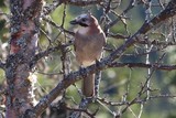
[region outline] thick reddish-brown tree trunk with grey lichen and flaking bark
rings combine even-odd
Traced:
[[[19,118],[34,106],[31,69],[40,32],[42,0],[10,0],[11,39],[7,58],[7,118]]]

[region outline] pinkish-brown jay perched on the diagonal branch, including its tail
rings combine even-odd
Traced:
[[[75,32],[75,55],[80,67],[87,67],[100,61],[106,45],[106,34],[98,20],[91,13],[82,13],[70,21],[79,25]],[[82,94],[86,97],[95,96],[95,73],[82,81]]]

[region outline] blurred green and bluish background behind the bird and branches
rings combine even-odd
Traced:
[[[136,0],[135,6],[131,8],[125,15],[121,15],[128,8],[130,0],[112,0],[111,6],[114,7],[111,12],[105,15],[105,8],[107,7],[109,0],[105,0],[102,4],[91,4],[91,6],[74,6],[74,4],[61,4],[50,14],[45,15],[45,19],[55,23],[52,24],[47,20],[41,20],[41,32],[38,42],[38,52],[45,51],[48,47],[56,46],[58,43],[73,42],[73,35],[63,32],[62,29],[66,31],[74,32],[75,26],[69,24],[69,21],[75,17],[91,12],[99,21],[101,28],[106,30],[109,22],[119,19],[118,23],[110,28],[107,33],[107,49],[105,51],[105,56],[108,56],[114,49],[122,45],[128,36],[133,35],[146,19],[152,19],[158,14],[169,0],[152,0],[150,15],[147,18],[147,2],[150,0]],[[53,1],[46,0],[45,8],[53,4]],[[161,4],[162,3],[162,4]],[[175,46],[175,19],[169,19],[163,22],[161,25],[156,25],[152,31],[147,32],[147,40],[164,42],[160,45],[136,43],[132,47],[129,47],[125,53],[121,54],[121,57],[116,60],[119,63],[161,63],[163,65],[174,65],[176,62],[176,46]],[[0,58],[6,61],[9,54],[9,40],[10,40],[10,9],[9,2],[7,0],[0,0]],[[121,36],[114,37],[111,34],[118,34]],[[173,42],[173,45],[166,45],[167,42]],[[77,71],[79,68],[77,62],[75,61],[74,47],[73,45],[66,49],[67,51],[57,51],[45,58],[42,58],[36,67],[33,69],[33,76],[37,77],[35,96],[36,99],[40,98],[54,88],[61,79],[63,79],[63,57],[65,62],[65,74]],[[146,51],[150,51],[148,54]],[[161,56],[165,56],[161,58]],[[148,57],[148,58],[147,58]],[[102,78],[100,82],[100,97],[107,98],[109,101],[121,103],[124,99],[131,101],[134,99],[139,92],[141,90],[141,85],[148,77],[152,68],[142,67],[112,67],[102,71]],[[128,110],[122,115],[122,118],[139,118],[138,116],[142,112],[140,118],[176,118],[176,98],[174,97],[157,97],[160,95],[176,95],[176,71],[160,71],[155,69],[151,74],[150,88],[151,96],[147,101],[142,104],[134,104],[128,108]],[[6,76],[4,72],[0,69],[0,88],[4,89]],[[79,95],[80,82],[75,85],[69,86],[65,92],[64,104],[70,107],[75,107],[80,103]],[[146,94],[142,95],[141,98],[145,98]],[[3,96],[1,104],[3,105]],[[61,96],[58,96],[61,99]],[[57,99],[56,99],[57,103]],[[119,111],[125,106],[111,106],[106,105],[110,111],[107,110],[105,106],[97,103],[90,106],[90,110],[94,112],[95,109],[100,107],[96,115],[96,118],[112,118],[111,111]],[[53,108],[55,115],[51,118],[66,117],[64,114],[65,109]],[[43,118],[50,117],[53,110],[47,110]],[[2,111],[3,112],[3,111]],[[58,116],[56,114],[59,114]]]

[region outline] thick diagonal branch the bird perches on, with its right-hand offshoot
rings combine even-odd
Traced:
[[[120,64],[120,63],[112,63],[116,58],[119,58],[129,46],[132,46],[135,42],[141,40],[141,35],[145,34],[150,30],[152,30],[156,24],[160,24],[161,22],[165,21],[166,19],[169,19],[176,14],[176,1],[172,0],[165,10],[163,10],[158,15],[154,17],[151,21],[144,22],[142,28],[131,37],[128,39],[128,41],[118,47],[116,51],[113,51],[108,57],[102,58],[98,64],[94,64],[91,66],[88,66],[82,72],[81,69],[77,72],[72,72],[65,78],[58,83],[58,85],[46,96],[44,96],[41,101],[30,111],[26,112],[26,115],[35,115],[40,116],[45,108],[59,95],[66,89],[68,86],[74,84],[75,82],[81,79],[84,75],[92,74],[96,71],[102,71],[108,67],[110,67],[111,64],[114,66],[139,66],[139,67],[155,67],[161,69],[175,69],[175,65],[173,66],[161,66],[161,65],[150,65],[150,64]],[[48,52],[53,52],[52,50]],[[43,53],[42,55],[48,54],[48,52]],[[42,56],[41,56],[42,57]],[[40,56],[38,56],[40,58]],[[111,65],[112,66],[112,65]],[[134,99],[135,100],[135,99]],[[133,103],[133,101],[132,101]],[[32,114],[31,114],[32,111]]]

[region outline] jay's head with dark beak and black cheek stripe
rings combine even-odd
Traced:
[[[80,14],[75,20],[70,21],[70,24],[78,24],[80,26],[91,26],[91,25],[98,25],[97,19],[91,15],[90,13]]]

